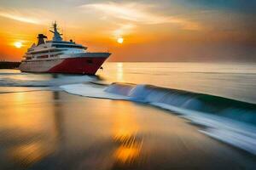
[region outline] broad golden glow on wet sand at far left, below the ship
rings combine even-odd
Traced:
[[[55,150],[58,138],[55,134],[55,116],[49,117],[55,110],[52,105],[44,105],[44,108],[32,106],[38,100],[26,93],[14,93],[3,98],[6,99],[7,110],[3,110],[4,116],[1,115],[0,129],[11,129],[9,135],[14,135],[14,142],[7,148],[6,154],[10,160],[22,166],[31,166]],[[51,98],[52,94],[44,94],[42,101]]]

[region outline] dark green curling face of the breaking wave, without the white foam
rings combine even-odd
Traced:
[[[152,85],[120,83],[113,83],[104,91],[110,94],[127,96],[133,101],[153,103],[154,105],[172,105],[190,111],[212,113],[256,125],[256,105],[234,99]]]

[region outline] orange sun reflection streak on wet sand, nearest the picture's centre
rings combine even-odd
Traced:
[[[143,135],[139,135],[139,124],[136,117],[131,116],[131,108],[128,110],[125,102],[116,102],[119,113],[115,117],[113,141],[118,145],[114,150],[114,160],[119,164],[132,164],[138,160],[143,147]]]

